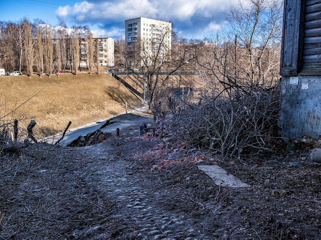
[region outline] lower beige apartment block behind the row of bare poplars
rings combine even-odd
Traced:
[[[88,65],[88,39],[81,39],[80,45],[80,66]],[[94,50],[96,51],[96,44],[98,44],[98,59],[101,66],[114,66],[115,64],[115,41],[111,37],[94,38]],[[95,52],[96,54],[96,52]],[[96,61],[94,60],[96,63]]]

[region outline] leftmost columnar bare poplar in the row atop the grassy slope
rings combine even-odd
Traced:
[[[33,74],[33,66],[34,66],[34,26],[30,23],[28,19],[24,19],[24,48],[26,53],[26,65],[27,65],[27,72],[29,77]]]

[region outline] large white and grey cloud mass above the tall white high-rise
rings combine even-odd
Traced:
[[[135,17],[172,20],[184,37],[198,37],[220,28],[224,12],[237,0],[83,0],[56,10],[59,20],[68,24],[100,26],[99,35],[121,36],[124,21]],[[223,23],[224,24],[224,23]],[[92,28],[93,29],[93,28]]]

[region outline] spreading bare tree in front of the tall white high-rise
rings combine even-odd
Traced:
[[[152,31],[153,36],[150,38],[133,39],[126,50],[121,49],[121,44],[118,43],[118,50],[123,51],[120,65],[132,70],[135,84],[143,85],[145,89],[144,99],[148,102],[149,109],[158,114],[161,97],[166,95],[169,88],[173,88],[174,82],[178,83],[182,79],[179,72],[195,58],[195,54],[193,51],[185,54],[190,51],[189,47],[186,47],[183,48],[185,53],[175,53],[176,57],[172,58],[171,27],[155,26]],[[136,66],[141,66],[143,74],[133,71]]]

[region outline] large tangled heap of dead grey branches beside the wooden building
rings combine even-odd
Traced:
[[[176,103],[169,111],[174,112],[168,129],[171,139],[192,148],[213,150],[223,157],[271,151],[277,143],[279,86],[248,89],[206,97],[198,103]]]

